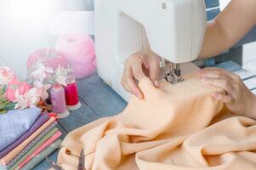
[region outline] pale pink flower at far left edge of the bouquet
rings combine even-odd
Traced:
[[[6,85],[15,77],[14,71],[7,66],[0,67],[0,85]]]

